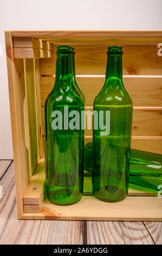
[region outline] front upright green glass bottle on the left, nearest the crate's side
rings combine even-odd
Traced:
[[[57,46],[54,88],[44,103],[46,196],[70,205],[83,193],[84,105],[73,83],[70,46]]]

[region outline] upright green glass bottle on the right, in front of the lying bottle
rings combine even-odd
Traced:
[[[94,196],[117,202],[127,196],[132,132],[132,99],[122,83],[122,47],[108,47],[106,80],[94,100]],[[95,118],[98,116],[98,118]]]

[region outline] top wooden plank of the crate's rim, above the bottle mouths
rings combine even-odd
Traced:
[[[58,44],[159,44],[162,41],[162,31],[12,31],[11,35],[34,37]]]

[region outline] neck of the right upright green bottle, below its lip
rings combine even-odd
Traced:
[[[108,54],[106,80],[109,77],[116,77],[122,80],[122,56],[121,54]]]

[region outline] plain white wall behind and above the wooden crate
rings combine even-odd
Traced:
[[[0,159],[12,159],[5,30],[162,30],[161,13],[161,0],[0,0]]]

